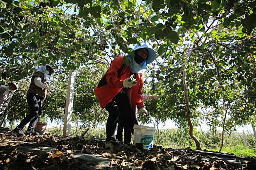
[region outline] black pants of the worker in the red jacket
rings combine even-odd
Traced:
[[[106,127],[107,140],[114,135],[118,122],[118,141],[122,141],[122,128],[124,129],[124,142],[130,143],[134,124],[138,124],[129,99],[125,93],[118,93],[108,103],[106,110],[109,113]]]

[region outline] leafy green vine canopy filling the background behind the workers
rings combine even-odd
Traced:
[[[144,93],[160,97],[145,103],[158,122],[187,127],[182,65],[187,50],[198,47],[186,69],[193,124],[223,126],[228,103],[226,130],[254,123],[254,18],[255,0],[0,0],[0,84],[20,84],[8,119],[28,113],[29,79],[49,63],[56,90],[43,114],[63,121],[69,71],[77,69],[73,120],[88,126],[100,110],[93,89],[112,59],[147,42],[158,58],[145,74]]]

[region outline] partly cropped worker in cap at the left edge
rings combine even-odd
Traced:
[[[10,82],[9,85],[0,86],[0,122],[4,119],[7,112],[8,104],[13,97],[13,93],[19,88],[19,85]]]

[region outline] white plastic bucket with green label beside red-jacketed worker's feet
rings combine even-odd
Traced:
[[[143,125],[134,125],[134,136],[133,144],[141,143],[143,148],[149,149],[153,147],[154,136],[155,136],[155,127],[143,126]]]

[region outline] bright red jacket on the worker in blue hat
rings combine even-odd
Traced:
[[[125,66],[122,56],[115,58],[111,62],[106,74],[101,78],[94,89],[94,93],[98,97],[99,104],[102,108],[105,108],[123,88],[123,81],[130,77],[130,71],[131,66],[128,68]],[[141,97],[143,88],[142,74],[136,74],[135,78],[138,83],[129,88],[127,93],[134,113],[136,111],[136,105],[138,109],[144,107]]]

